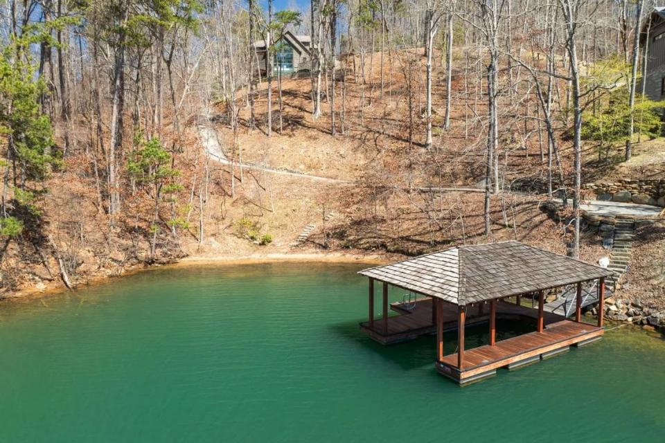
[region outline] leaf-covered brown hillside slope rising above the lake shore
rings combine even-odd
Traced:
[[[178,204],[172,205],[173,213],[177,212],[185,223],[175,234],[159,233],[159,262],[177,261],[187,255],[214,260],[323,251],[415,255],[462,242],[506,239],[565,253],[569,239],[565,223],[547,215],[542,195],[495,195],[492,233],[486,238],[482,193],[438,190],[476,188],[484,179],[486,98],[470,81],[479,72],[454,70],[452,125],[444,130],[445,75],[441,64],[434,66],[434,145],[427,150],[423,146],[423,51],[397,53],[393,63],[384,66],[383,86],[378,59],[378,55],[366,56],[364,71],[359,57],[342,65],[345,71],[335,86],[335,135],[331,131],[329,94],[323,96],[321,116],[312,118],[308,78],[283,80],[281,128],[277,82],[273,82],[273,132],[269,137],[265,82],[255,91],[253,127],[249,125],[249,98],[244,95],[247,89],[238,90],[240,124],[235,131],[223,100],[203,120],[202,116],[188,120],[184,152],[175,163],[181,168],[182,190],[177,195]],[[435,59],[440,60],[438,54]],[[465,66],[461,55],[456,55],[454,65]],[[519,181],[526,183],[527,189],[542,188],[547,177],[542,134],[539,136],[535,120],[524,118],[525,113],[535,110],[535,99],[528,90],[520,89],[514,95],[504,93],[500,100],[502,131],[497,162],[502,186],[508,190]],[[201,104],[201,109],[206,107]],[[209,125],[216,133],[220,150],[233,167],[206,156],[207,136],[202,136],[202,125]],[[562,173],[569,177],[571,150],[563,139],[560,156]],[[589,148],[585,152],[589,178],[608,174],[607,168],[602,169],[594,161]],[[128,196],[126,211],[109,228],[95,183],[78,177],[76,159],[69,159],[69,163],[71,168],[54,174],[48,183],[52,192],[44,219],[71,280],[82,284],[144,266],[150,196],[140,192]],[[242,168],[241,164],[253,168]],[[262,170],[262,165],[297,174],[276,174]],[[312,180],[300,174],[344,183]],[[206,177],[205,186],[202,177]],[[64,210],[72,205],[78,210]],[[170,215],[165,209],[163,216]],[[304,232],[305,241],[299,241]],[[595,262],[607,254],[596,233],[585,231],[582,240],[584,260]],[[39,242],[44,244],[45,240]],[[636,242],[635,257],[644,256],[642,249],[646,251],[654,244]],[[43,257],[37,251],[39,248],[28,251],[30,260],[14,266],[15,288],[62,284],[57,277],[56,255]],[[25,256],[26,251],[15,254]],[[635,264],[636,275],[647,272],[641,262]],[[659,280],[655,277],[649,281]],[[655,303],[661,303],[662,292],[657,293],[655,283],[633,281],[627,294],[635,298],[644,291],[653,295],[650,299]]]

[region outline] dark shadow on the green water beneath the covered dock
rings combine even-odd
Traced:
[[[401,370],[414,370],[432,365],[436,359],[436,335],[420,336],[415,340],[382,345],[373,341],[360,330],[360,322],[344,322],[330,325],[329,329],[344,338],[353,349],[361,352],[372,352],[385,362],[398,366]],[[535,320],[517,321],[497,319],[497,341],[533,332]],[[488,344],[488,323],[481,323],[465,328],[465,350]],[[457,332],[447,331],[443,334],[444,354],[457,352]],[[351,348],[350,348],[351,349]]]

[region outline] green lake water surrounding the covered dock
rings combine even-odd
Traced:
[[[0,442],[665,441],[658,334],[624,327],[459,388],[434,337],[359,331],[358,269],[161,269],[1,303]]]

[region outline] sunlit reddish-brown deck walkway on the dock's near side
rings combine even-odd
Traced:
[[[547,325],[543,332],[530,332],[465,350],[462,368],[457,368],[457,354],[449,354],[436,363],[446,377],[465,385],[496,374],[497,368],[515,369],[569,350],[571,345],[585,345],[603,335],[603,328],[571,320]]]

